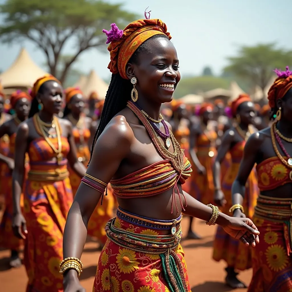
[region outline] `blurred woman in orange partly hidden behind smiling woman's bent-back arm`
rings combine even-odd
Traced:
[[[90,159],[90,150],[98,121],[92,121],[90,117],[84,115],[84,96],[79,88],[70,87],[65,90],[66,107],[64,109],[64,119],[72,123],[72,133],[77,146],[77,157],[84,166],[87,166]],[[102,101],[98,102],[98,110],[102,111]],[[69,170],[70,184],[73,196],[75,196],[80,185],[81,178],[73,171]],[[107,240],[105,234],[105,224],[113,217],[114,197],[109,185],[107,196],[103,200],[102,206],[96,206],[88,222],[87,234],[98,239],[101,247]]]

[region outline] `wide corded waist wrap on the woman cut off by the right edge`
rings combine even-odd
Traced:
[[[290,221],[292,218],[292,198],[272,198],[259,195],[255,215],[275,222]]]

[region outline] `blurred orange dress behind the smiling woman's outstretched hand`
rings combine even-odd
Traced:
[[[239,170],[245,143],[246,141],[243,140],[236,143],[230,149],[232,164],[222,180],[221,187],[227,203],[220,209],[223,213],[228,215],[231,215],[229,209],[232,206],[231,187]],[[244,207],[244,214],[248,218],[252,218],[253,216],[258,194],[258,180],[256,176],[256,169],[254,168],[246,182],[245,196],[242,204]],[[230,237],[230,235],[228,235],[221,226],[218,226],[217,228],[213,247],[214,260],[224,260],[228,267],[233,267],[234,269],[241,271],[251,268],[251,248]]]

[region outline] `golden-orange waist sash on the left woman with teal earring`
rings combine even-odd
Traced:
[[[69,177],[67,159],[60,164],[55,161],[33,161],[30,163],[28,180],[31,181],[60,181]]]

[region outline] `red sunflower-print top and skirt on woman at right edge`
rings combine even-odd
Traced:
[[[284,157],[287,161],[288,158]],[[291,184],[291,169],[278,157],[256,166],[260,191]],[[260,232],[260,243],[252,248],[253,277],[248,292],[292,291],[292,198],[259,195],[253,222]]]

